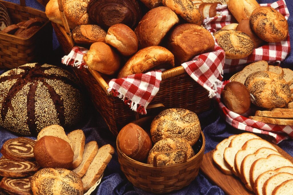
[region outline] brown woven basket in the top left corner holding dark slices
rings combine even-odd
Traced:
[[[9,12],[13,23],[39,17],[44,20],[42,27],[31,37],[23,39],[0,32],[0,68],[16,68],[20,65],[43,61],[52,52],[52,26],[43,11],[25,6],[25,0],[20,5],[1,1]]]

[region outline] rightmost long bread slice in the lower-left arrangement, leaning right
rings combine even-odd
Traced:
[[[100,178],[107,164],[112,159],[114,148],[110,145],[104,145],[98,149],[96,156],[91,162],[86,174],[81,178],[84,185],[84,192],[88,191]]]

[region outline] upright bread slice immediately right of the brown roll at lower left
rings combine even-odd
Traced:
[[[68,139],[72,143],[72,150],[74,152],[72,169],[78,167],[82,161],[82,155],[84,154],[84,144],[86,142],[86,136],[82,130],[74,130],[67,135]]]

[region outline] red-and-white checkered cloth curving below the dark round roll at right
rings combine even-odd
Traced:
[[[276,144],[282,142],[285,139],[293,138],[293,126],[292,125],[274,125],[270,123],[255,121],[249,119],[245,116],[239,115],[235,112],[229,110],[222,102],[221,102],[221,92],[224,89],[224,86],[230,81],[222,82],[217,86],[218,90],[216,96],[214,97],[217,103],[219,104],[220,113],[226,120],[226,122],[235,127],[236,129],[260,133],[265,135],[270,135],[274,137],[274,142]],[[248,111],[249,112],[249,111]],[[244,114],[245,115],[245,114]]]

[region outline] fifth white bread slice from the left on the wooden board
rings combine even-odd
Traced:
[[[251,165],[249,172],[252,187],[254,187],[255,180],[262,173],[286,166],[293,166],[293,163],[287,158],[277,154],[270,154],[267,158],[260,158],[256,160]]]

